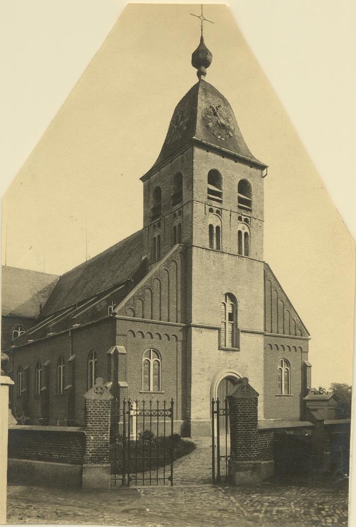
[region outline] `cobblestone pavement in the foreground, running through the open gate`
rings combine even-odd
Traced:
[[[86,523],[142,527],[319,527],[347,525],[345,487],[276,481],[255,487],[211,484],[209,438],[174,463],[174,486],[107,491],[8,487],[8,523]]]

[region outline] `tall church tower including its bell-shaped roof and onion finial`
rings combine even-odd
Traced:
[[[177,104],[161,153],[141,178],[149,264],[176,243],[187,247],[193,435],[210,427],[209,400],[222,379],[248,376],[263,394],[267,166],[247,147],[229,102],[205,81],[211,61],[202,36],[192,54],[199,80]]]

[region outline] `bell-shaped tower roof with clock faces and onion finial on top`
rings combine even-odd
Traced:
[[[199,81],[177,104],[160,155],[153,167],[141,178],[145,180],[180,151],[192,143],[220,151],[226,157],[240,159],[260,168],[262,163],[249,150],[236,121],[230,103],[212,84],[204,80],[206,68],[212,62],[204,38],[192,54],[192,65]]]

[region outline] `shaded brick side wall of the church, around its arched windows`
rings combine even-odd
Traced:
[[[48,424],[67,423],[68,406],[71,407],[71,424],[84,424],[84,398],[87,391],[87,360],[91,350],[97,358],[96,376],[106,380],[110,378],[110,368],[106,352],[115,345],[116,320],[107,318],[89,326],[78,327],[65,333],[39,340],[19,347],[13,352],[13,375],[15,388],[13,392],[13,414],[21,416],[25,409],[26,416],[31,417],[30,424],[38,424],[43,408],[43,396],[35,395],[35,369],[40,362],[43,367],[43,385],[45,385],[44,364],[50,360],[48,368],[49,386]],[[75,357],[74,357],[75,356]],[[74,357],[74,359],[73,359]],[[57,394],[57,363],[63,358],[64,387],[72,384],[72,391]],[[22,366],[25,372],[26,391],[17,395],[17,369]],[[26,369],[27,368],[27,369]],[[75,372],[75,375],[71,373]],[[70,397],[70,401],[68,401]]]

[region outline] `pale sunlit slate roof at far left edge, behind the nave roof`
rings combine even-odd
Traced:
[[[2,267],[2,314],[37,318],[39,305],[51,294],[57,275],[17,267]]]

